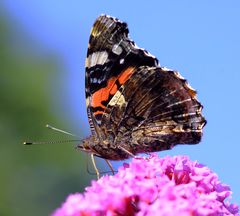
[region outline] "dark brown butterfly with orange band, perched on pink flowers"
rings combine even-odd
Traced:
[[[125,22],[101,15],[86,58],[91,135],[78,145],[106,160],[197,144],[206,120],[196,91],[129,38]]]

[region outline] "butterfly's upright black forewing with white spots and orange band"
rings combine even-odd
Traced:
[[[86,96],[89,114],[100,125],[106,106],[117,89],[141,65],[158,60],[137,48],[128,37],[127,24],[106,15],[94,23],[86,59]]]

